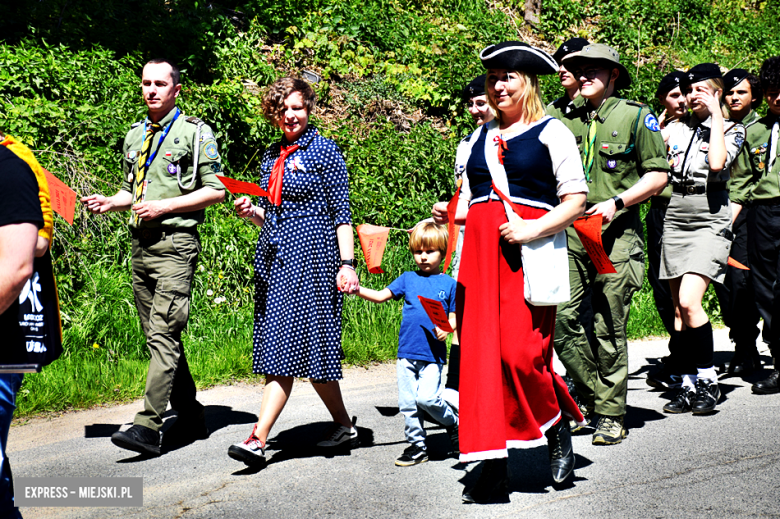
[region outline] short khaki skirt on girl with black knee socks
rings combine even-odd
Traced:
[[[675,279],[694,273],[723,283],[731,242],[728,191],[685,196],[672,193],[664,220],[658,277]]]

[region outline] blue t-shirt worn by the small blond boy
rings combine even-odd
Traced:
[[[401,331],[398,334],[398,358],[444,364],[447,345],[436,339],[434,324],[417,296],[441,301],[444,311],[455,311],[457,283],[447,274],[404,272],[387,288],[395,299],[404,299]]]

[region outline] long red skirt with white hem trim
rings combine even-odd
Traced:
[[[525,219],[547,212],[518,207]],[[561,414],[584,420],[552,367],[556,307],[525,301],[520,247],[498,230],[506,221],[495,201],[472,205],[466,219],[456,296],[462,462],[544,445]]]

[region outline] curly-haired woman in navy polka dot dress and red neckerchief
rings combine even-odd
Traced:
[[[266,375],[260,416],[252,434],[228,454],[253,465],[292,391],[295,377],[308,377],[325,403],[333,426],[317,445],[357,440],[338,381],[341,377],[341,292],[354,293],[354,242],[349,183],[336,144],[308,125],[315,94],[305,81],[277,80],[263,99],[263,112],[284,137],[263,156],[260,185],[270,196],[255,206],[235,201],[242,218],[262,228],[255,254],[253,371]]]

